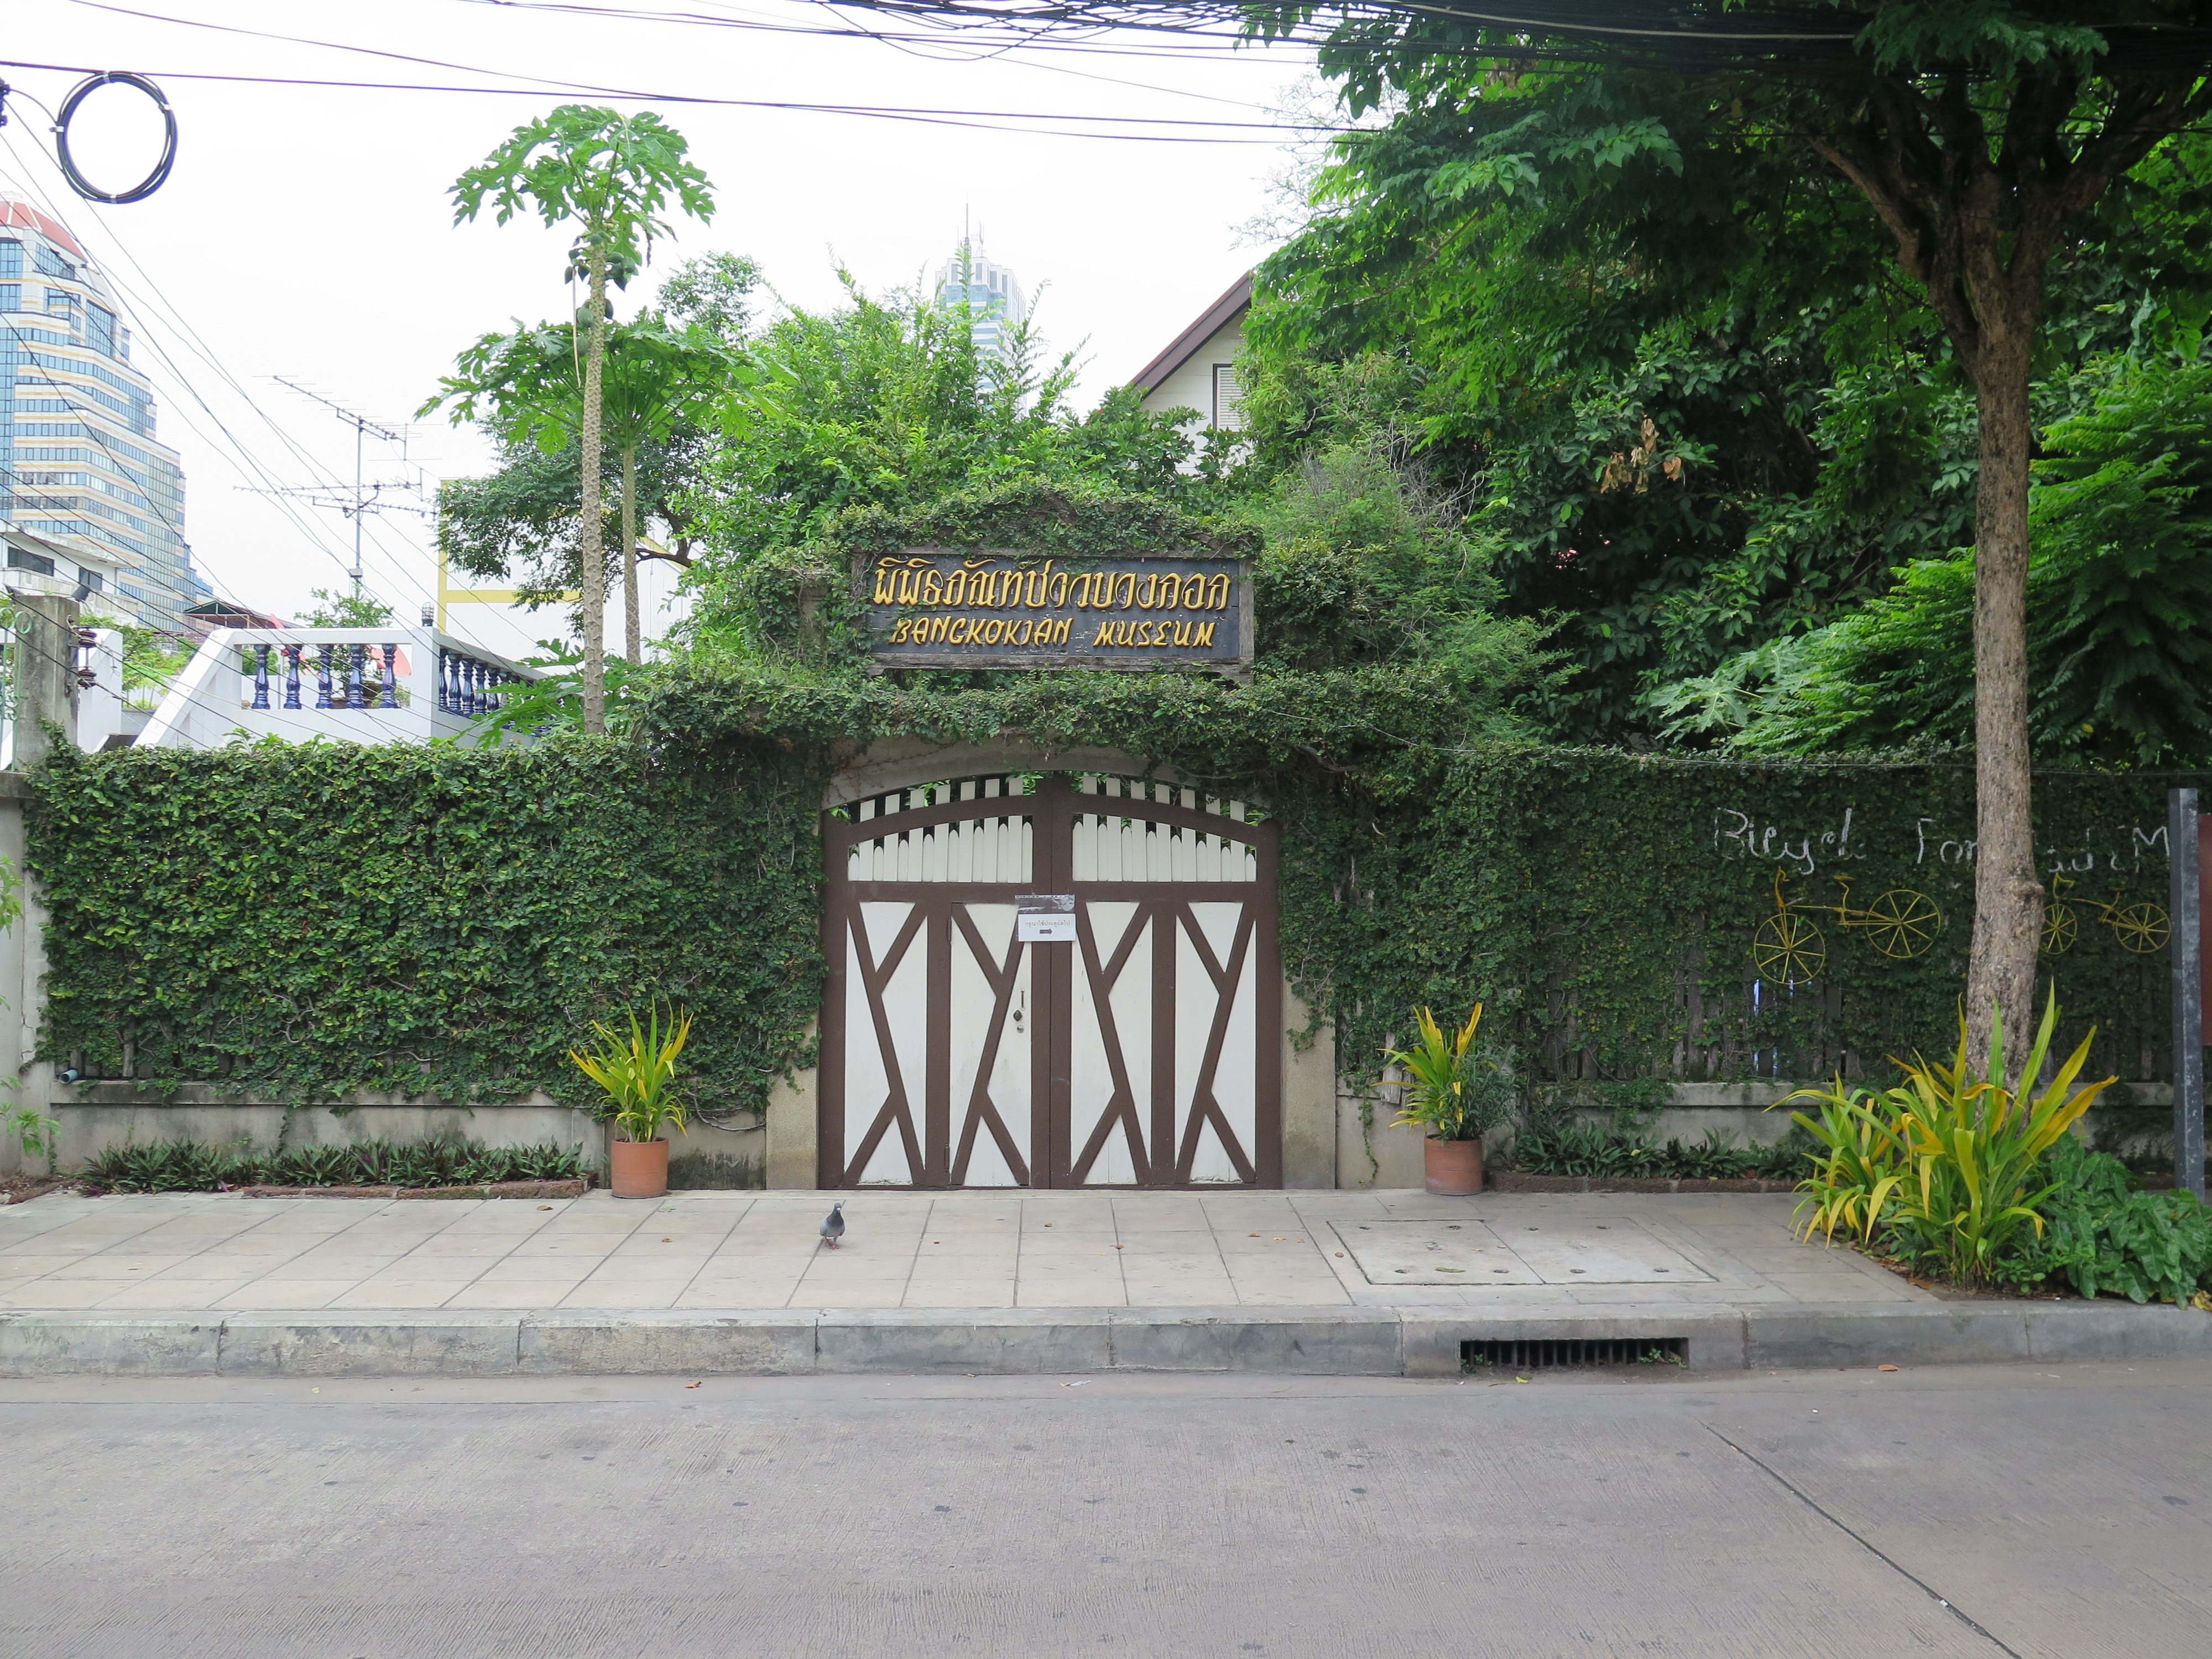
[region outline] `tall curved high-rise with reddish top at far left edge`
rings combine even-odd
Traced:
[[[18,588],[181,630],[208,597],[184,542],[184,471],[155,436],[153,385],[77,241],[0,197],[0,540]]]

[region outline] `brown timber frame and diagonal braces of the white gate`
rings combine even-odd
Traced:
[[[925,785],[914,785],[925,787]],[[1179,787],[1179,785],[1177,785]],[[973,818],[1029,818],[1031,823],[1031,878],[1026,885],[1018,883],[951,883],[951,880],[847,880],[845,867],[854,845],[863,841],[878,841],[885,834],[900,834],[907,830],[927,830],[940,823],[962,823]],[[1146,823],[1161,823],[1168,827],[1190,830],[1197,834],[1223,836],[1230,825],[1228,838],[1241,841],[1256,849],[1259,854],[1259,878],[1256,880],[1223,880],[1223,883],[1199,883],[1199,880],[1177,880],[1177,883],[1150,883],[1150,880],[1075,880],[1075,818],[1077,816],[1106,816],[1106,818],[1139,818]],[[1199,1088],[1190,1104],[1190,1124],[1183,1133],[1183,1144],[1175,1146],[1172,1121],[1175,1102],[1170,1097],[1172,1071],[1175,1071],[1175,1018],[1179,1011],[1179,1000],[1175,991],[1175,933],[1186,929],[1199,949],[1199,960],[1206,964],[1208,975],[1214,978],[1217,987],[1223,978],[1234,984],[1232,964],[1239,953],[1254,951],[1254,1033],[1259,1053],[1254,1055],[1254,1124],[1252,1139],[1254,1146],[1245,1148],[1245,1157],[1232,1161],[1239,1164],[1239,1175],[1245,1177],[1248,1186],[1254,1188],[1281,1188],[1283,1186],[1283,1046],[1281,1024],[1283,1024],[1283,956],[1276,940],[1276,927],[1281,920],[1281,900],[1276,894],[1276,863],[1281,856],[1281,834],[1274,823],[1245,823],[1237,818],[1223,818],[1214,812],[1201,812],[1197,807],[1186,807],[1181,803],[1168,801],[1137,801],[1126,796],[1104,796],[1104,794],[1077,794],[1066,774],[1046,776],[1035,794],[1026,796],[978,796],[973,801],[938,801],[927,807],[911,807],[907,812],[889,812],[878,818],[867,818],[860,823],[847,823],[834,812],[823,812],[823,876],[825,876],[825,902],[823,902],[823,953],[830,962],[830,978],[823,991],[823,1013],[821,1013],[821,1106],[818,1106],[818,1128],[816,1128],[816,1181],[823,1188],[843,1188],[845,1170],[860,1166],[865,1168],[863,1152],[874,1155],[874,1146],[880,1135],[891,1130],[896,1121],[898,1133],[907,1141],[907,1168],[920,1170],[918,1181],[905,1190],[942,1190],[953,1188],[967,1175],[969,1155],[973,1152],[973,1137],[967,1137],[960,1146],[951,1144],[953,1124],[953,1099],[951,1099],[951,1055],[949,1044],[942,1033],[951,1026],[951,947],[953,947],[953,925],[956,905],[995,902],[1004,905],[1013,900],[1018,891],[1037,894],[1075,894],[1077,902],[1077,942],[1073,945],[1018,945],[1018,951],[1031,951],[1031,993],[1037,1009],[1037,1031],[1031,1033],[1031,1102],[1044,1102],[1044,1110],[1031,1108],[1031,1144],[1024,1155],[1015,1155],[1009,1144],[1011,1137],[1000,1128],[995,1139],[1000,1139],[1006,1152],[1009,1168],[1024,1177],[1031,1186],[1088,1186],[1079,1177],[1097,1159],[1106,1135],[1113,1126],[1133,1121],[1135,1102],[1128,1099],[1119,1110],[1108,1110],[1099,1119],[1097,1133],[1082,1148],[1073,1146],[1073,1086],[1071,1086],[1071,1040],[1075,1024],[1075,973],[1077,953],[1082,953],[1082,971],[1093,978],[1093,1004],[1106,1006],[1102,995],[1104,987],[1097,984],[1102,973],[1108,973],[1108,962],[1099,960],[1099,942],[1091,931],[1091,902],[1137,902],[1139,911],[1130,918],[1128,933],[1124,936],[1121,956],[1126,958],[1128,945],[1137,938],[1144,927],[1152,929],[1152,1133],[1141,1135],[1146,1148],[1152,1157],[1141,1161],[1137,1186],[1139,1188],[1190,1188],[1199,1186],[1208,1192],[1219,1192],[1225,1183],[1190,1181],[1190,1166],[1197,1155],[1199,1130],[1208,1115],[1217,1117],[1217,1128],[1221,1130],[1223,1146],[1232,1146],[1225,1126],[1219,1124],[1219,1106],[1214,1106],[1210,1086]],[[878,1121],[876,1128],[863,1139],[854,1152],[845,1150],[845,958],[847,940],[854,938],[854,922],[858,920],[858,907],[869,900],[907,902],[914,905],[914,914],[900,929],[900,938],[894,942],[887,962],[863,962],[863,973],[872,978],[889,978],[891,969],[902,960],[902,953],[920,947],[929,958],[929,993],[925,1018],[929,1022],[933,1042],[925,1042],[927,1053],[927,1075],[922,1082],[922,1110],[914,1113],[914,1102],[907,1091],[911,1079],[891,1073],[896,1062],[896,1048],[883,1042],[887,1033],[878,1031],[878,1044],[885,1053],[885,1071],[891,1075],[891,1104],[902,1108],[896,1110],[891,1119]],[[1194,902],[1239,902],[1248,905],[1245,925],[1239,929],[1239,940],[1230,951],[1230,964],[1214,962],[1212,949],[1206,942],[1203,931],[1197,927],[1197,918],[1190,914]],[[960,918],[964,920],[964,918]],[[863,936],[865,938],[865,936]],[[978,962],[980,962],[978,953]],[[998,964],[998,973],[1011,973],[1018,967],[1015,958]],[[1108,973],[1110,978],[1110,973]],[[1110,1013],[1108,1013],[1110,1018]],[[1217,995],[1217,1020],[1210,1033],[1206,1064],[1201,1066],[1201,1084],[1210,1084],[1214,1064],[1221,1057],[1221,1044],[1228,1029],[1228,1006]],[[991,1060],[998,1048],[1000,1031],[993,1026],[984,1040],[984,1057],[980,1077],[991,1075]],[[1115,1044],[1119,1046],[1119,1044]],[[1130,1060],[1124,1055],[1124,1060]],[[1119,1093],[1119,1091],[1117,1091]],[[1042,1175],[1042,1179],[1040,1179]],[[896,1192],[900,1188],[883,1188]]]

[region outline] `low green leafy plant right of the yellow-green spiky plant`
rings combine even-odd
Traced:
[[[2020,1285],[2059,1279],[2079,1296],[2185,1303],[2212,1290],[2212,1210],[2194,1192],[2141,1192],[2128,1166],[2059,1139],[2044,1161],[2053,1186],[2044,1230],[1993,1270]]]

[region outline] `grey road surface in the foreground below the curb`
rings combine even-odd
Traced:
[[[0,1655],[2208,1655],[2212,1365],[0,1383]]]

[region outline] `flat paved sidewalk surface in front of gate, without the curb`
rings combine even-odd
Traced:
[[[838,1250],[823,1250],[816,1230],[836,1197],[847,1232]],[[659,1203],[604,1192],[546,1203],[53,1194],[0,1210],[0,1307],[1535,1312],[1929,1301],[1849,1250],[1796,1243],[1790,1210],[1790,1197],[1763,1194],[863,1190],[677,1192]],[[1469,1230],[1478,1243],[1458,1256],[1425,1248],[1458,1248],[1451,1232]],[[1632,1248],[1621,1254],[1619,1241]],[[1425,1272],[1431,1265],[1442,1270]],[[1473,1287],[1489,1279],[1504,1283]]]

